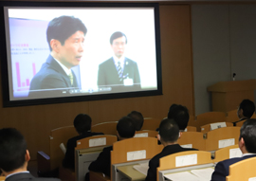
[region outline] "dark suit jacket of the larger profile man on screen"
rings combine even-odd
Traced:
[[[48,56],[46,63],[44,63],[39,72],[33,77],[30,82],[29,90],[40,90],[40,89],[66,89],[72,87],[78,87],[78,81],[75,73],[73,73],[73,85],[69,77],[64,72],[62,66],[57,63],[51,55]],[[63,90],[57,90],[61,93]],[[34,92],[29,92],[29,96],[33,95]]]

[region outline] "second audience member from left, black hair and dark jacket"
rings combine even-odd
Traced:
[[[85,114],[79,114],[74,119],[74,127],[79,136],[68,139],[66,143],[66,153],[64,155],[63,166],[68,169],[75,169],[75,147],[77,146],[77,140],[89,136],[103,135],[102,133],[91,132],[92,119]]]

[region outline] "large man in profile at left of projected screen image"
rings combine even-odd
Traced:
[[[46,30],[50,55],[30,83],[29,96],[38,90],[78,88],[72,67],[82,60],[83,42],[87,28],[73,16],[54,18]]]

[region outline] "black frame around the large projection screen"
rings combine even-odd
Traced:
[[[9,100],[9,73],[8,73],[8,58],[6,47],[6,30],[4,21],[4,7],[101,7],[101,8],[147,8],[153,7],[155,9],[155,53],[156,53],[156,75],[157,75],[157,90],[124,92],[124,93],[110,93],[101,95],[85,95],[72,96],[63,98],[48,98],[37,100]],[[50,103],[64,103],[88,100],[111,100],[121,98],[134,98],[162,95],[162,74],[161,74],[161,48],[160,48],[160,29],[159,29],[159,7],[157,3],[86,3],[86,2],[0,2],[0,53],[1,53],[1,76],[2,76],[2,92],[3,92],[3,106],[25,106],[25,105],[39,105]]]

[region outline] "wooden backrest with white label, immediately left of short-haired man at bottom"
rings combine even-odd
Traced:
[[[163,149],[162,145],[157,144],[155,137],[133,137],[124,139],[113,144],[113,151],[111,152],[111,165],[151,159],[155,154],[159,154]],[[138,154],[140,156],[133,155]]]

